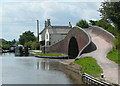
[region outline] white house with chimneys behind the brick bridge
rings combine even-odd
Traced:
[[[68,26],[52,26],[50,19],[47,19],[45,28],[39,33],[39,41],[45,46],[53,45],[63,40],[71,29],[70,22]]]

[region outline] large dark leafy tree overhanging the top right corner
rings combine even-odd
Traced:
[[[106,1],[103,2],[101,6],[102,8],[99,9],[101,16],[113,22],[113,24],[117,26],[117,29],[120,32],[120,1]]]

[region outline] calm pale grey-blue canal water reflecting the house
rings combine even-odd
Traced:
[[[2,54],[1,58],[2,84],[74,84],[58,70],[59,60],[15,57],[14,53]]]

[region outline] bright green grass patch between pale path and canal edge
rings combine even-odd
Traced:
[[[103,73],[103,70],[97,64],[97,61],[92,57],[81,58],[79,60],[74,61],[74,63],[77,63],[80,66],[82,66],[82,74],[87,73],[94,77],[99,77],[100,74]]]

